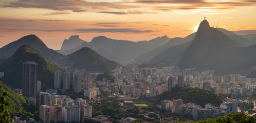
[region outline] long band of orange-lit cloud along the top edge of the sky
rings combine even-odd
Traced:
[[[227,10],[243,6],[255,6],[255,1],[204,1],[204,0],[138,0],[123,2],[89,2],[82,0],[19,0],[0,7],[40,8],[57,11],[96,12],[106,14],[156,14],[160,11],[218,9]],[[85,9],[86,8],[86,9]],[[136,10],[136,11],[134,11]],[[157,12],[158,11],[158,12]],[[50,13],[49,13],[50,14]],[[58,14],[58,13],[55,13]],[[65,13],[59,13],[65,14]],[[66,13],[67,14],[67,13]],[[50,14],[54,15],[54,13]]]

